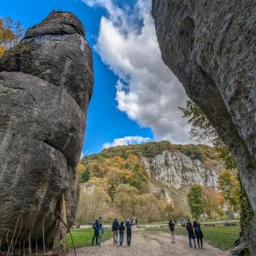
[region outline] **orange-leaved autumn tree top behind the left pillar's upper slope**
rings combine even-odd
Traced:
[[[20,22],[14,22],[10,17],[0,18],[0,56],[22,39],[25,30]]]

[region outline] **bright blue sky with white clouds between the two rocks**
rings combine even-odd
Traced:
[[[53,10],[73,12],[83,23],[94,57],[94,94],[83,154],[128,141],[190,142],[190,127],[177,110],[184,105],[185,92],[162,63],[146,2],[1,1],[0,17],[10,16],[27,28]]]

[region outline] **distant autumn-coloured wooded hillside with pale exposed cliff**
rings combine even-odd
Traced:
[[[223,171],[219,154],[206,145],[161,141],[103,149],[80,161],[77,221],[88,222],[97,215],[136,216],[148,222],[190,216],[187,193],[193,184],[213,195],[210,214],[220,215],[217,180]]]

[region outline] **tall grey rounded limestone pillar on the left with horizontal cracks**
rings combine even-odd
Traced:
[[[0,239],[53,244],[71,226],[76,165],[92,97],[92,51],[79,19],[52,12],[0,59]],[[64,202],[63,202],[64,200]],[[65,209],[61,208],[65,206]]]

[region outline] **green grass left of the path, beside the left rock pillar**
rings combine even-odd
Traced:
[[[71,234],[74,240],[74,244],[76,248],[86,247],[92,244],[92,237],[94,234],[93,229],[72,229]],[[102,242],[112,237],[112,232],[110,229],[104,229],[104,235],[102,237]],[[71,250],[73,248],[71,238],[68,234],[68,248]]]

